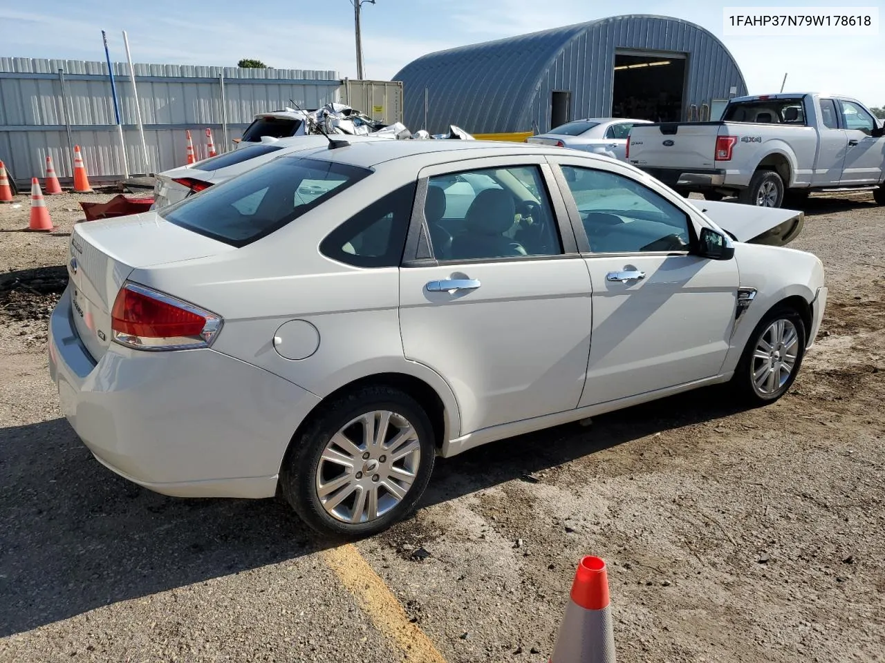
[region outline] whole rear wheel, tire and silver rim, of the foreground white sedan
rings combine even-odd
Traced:
[[[293,439],[280,488],[312,530],[367,537],[412,512],[434,461],[433,427],[419,403],[368,386],[331,402]]]

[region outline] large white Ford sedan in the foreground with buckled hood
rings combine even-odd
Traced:
[[[50,373],[119,475],[181,497],[279,491],[315,530],[371,534],[416,506],[437,456],[704,385],[751,403],[789,389],[823,266],[747,241],[776,242],[792,212],[720,203],[726,232],[699,204],[524,143],[281,156],[77,224]]]

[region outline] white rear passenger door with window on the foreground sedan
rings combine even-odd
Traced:
[[[404,354],[451,386],[461,435],[573,409],[581,397],[590,279],[550,177],[543,156],[419,173],[400,270]]]

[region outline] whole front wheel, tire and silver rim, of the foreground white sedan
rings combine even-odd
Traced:
[[[766,405],[789,391],[805,355],[805,324],[796,309],[776,307],[750,334],[732,385],[744,400]]]

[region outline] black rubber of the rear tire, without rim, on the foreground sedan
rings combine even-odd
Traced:
[[[411,514],[427,489],[427,483],[430,481],[430,475],[434,469],[436,452],[433,426],[419,403],[406,393],[388,386],[366,386],[342,395],[320,408],[322,409],[319,413],[292,440],[280,471],[282,497],[295,509],[296,514],[312,530],[335,538],[372,536],[387,530],[392,524]],[[386,410],[402,416],[412,425],[419,443],[418,469],[415,472],[412,486],[405,492],[399,503],[389,508],[386,513],[367,522],[342,522],[327,512],[319,498],[316,482],[317,472],[320,471],[320,457],[331,438],[345,425],[353,422],[360,415],[379,410]],[[373,457],[366,463],[375,460],[378,459]],[[362,459],[360,458],[359,461]],[[375,471],[371,468],[370,470]],[[368,477],[368,471],[366,471],[366,477]],[[379,498],[379,504],[381,499],[390,499],[388,495],[392,496],[393,494],[387,491],[383,482],[381,489],[384,491],[384,497]],[[381,489],[376,490],[380,493]],[[344,499],[342,504],[349,500],[349,498]],[[354,497],[355,500],[356,497]],[[351,511],[354,509],[354,507],[348,508]]]

